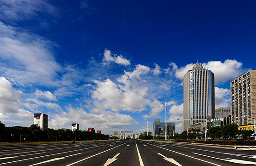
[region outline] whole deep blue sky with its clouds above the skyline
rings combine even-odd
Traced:
[[[1,0],[0,121],[49,128],[142,132],[176,121],[183,76],[215,74],[216,109],[230,81],[255,69],[254,0]],[[149,123],[152,131],[152,123]]]

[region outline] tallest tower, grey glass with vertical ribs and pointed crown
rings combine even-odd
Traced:
[[[215,110],[214,74],[203,68],[202,64],[194,65],[183,78],[184,95],[184,130],[190,125],[212,119]]]

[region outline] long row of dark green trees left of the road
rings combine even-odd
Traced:
[[[30,127],[4,127],[0,125],[0,142],[20,141],[63,141],[63,140],[109,140],[114,139],[107,134],[98,134],[85,130],[53,129],[43,131],[37,124]]]

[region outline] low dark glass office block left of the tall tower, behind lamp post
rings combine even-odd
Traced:
[[[175,121],[167,121],[167,133],[175,133]],[[153,136],[164,135],[165,133],[165,121],[161,122],[160,119],[155,119],[153,121]]]

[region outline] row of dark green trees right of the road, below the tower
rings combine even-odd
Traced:
[[[205,128],[203,128],[203,132],[205,131]],[[170,134],[167,133],[167,139],[185,139],[185,140],[195,140],[198,139],[204,139],[205,133],[199,134],[199,129],[192,128],[187,131],[183,131],[181,134],[174,133]],[[238,126],[235,123],[227,124],[224,126],[210,126],[207,128],[207,138],[209,139],[236,139],[236,138],[242,138],[242,139],[248,139],[251,134],[253,134],[254,131],[252,130],[238,130]],[[139,135],[140,139],[153,139],[153,136],[147,134],[147,132],[141,133]],[[154,139],[165,139],[163,136],[154,137]]]

